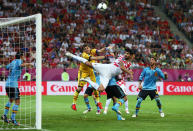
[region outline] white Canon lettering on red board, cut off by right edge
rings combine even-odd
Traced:
[[[168,85],[166,87],[168,92],[193,92],[193,86],[175,86]]]

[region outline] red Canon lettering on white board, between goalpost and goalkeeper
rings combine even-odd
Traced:
[[[52,85],[50,90],[52,92],[75,92],[77,86],[59,86],[59,85]]]

